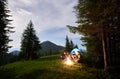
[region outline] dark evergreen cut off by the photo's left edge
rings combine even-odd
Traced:
[[[9,39],[9,34],[12,33],[11,29],[13,27],[10,26],[10,15],[8,14],[10,11],[8,10],[8,2],[7,0],[0,0],[0,65],[4,61],[4,55],[8,51],[8,43],[11,41]]]

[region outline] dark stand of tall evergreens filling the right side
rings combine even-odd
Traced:
[[[71,32],[84,35],[81,40],[90,64],[105,71],[120,67],[119,4],[119,0],[78,0],[74,7],[78,26],[68,26]]]

